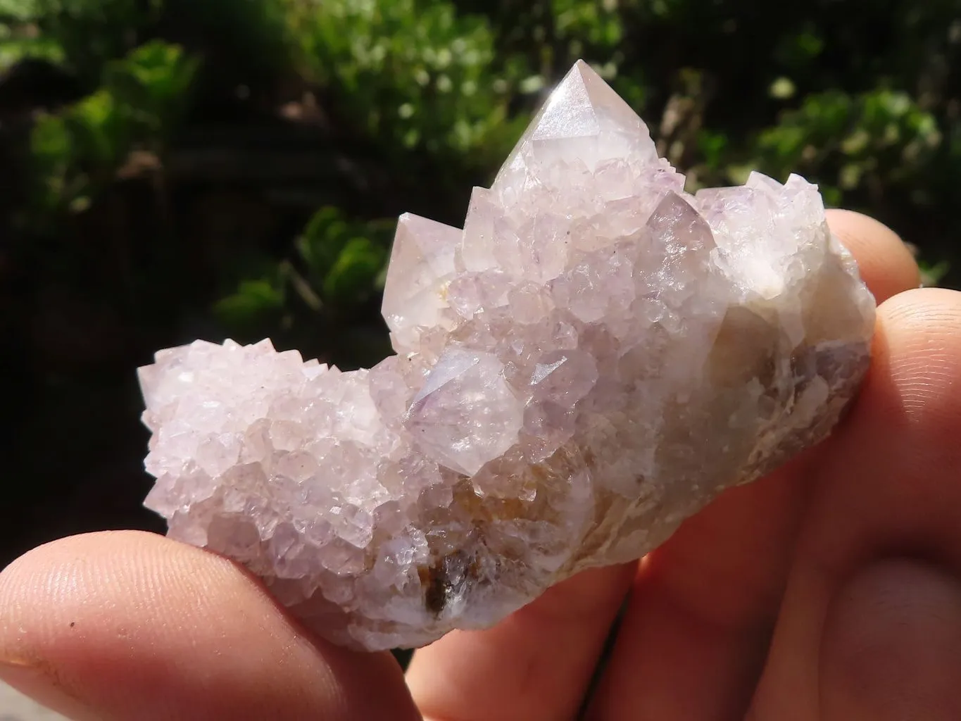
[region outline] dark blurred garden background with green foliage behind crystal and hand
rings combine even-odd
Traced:
[[[578,58],[692,186],[799,171],[957,286],[958,0],[0,0],[0,563],[160,528],[135,368],[386,352],[393,222],[459,224]]]

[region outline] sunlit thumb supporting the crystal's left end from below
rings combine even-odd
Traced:
[[[0,574],[0,678],[72,718],[418,718],[396,662],[306,634],[226,559],[55,541]]]

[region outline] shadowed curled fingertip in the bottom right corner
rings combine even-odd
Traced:
[[[924,563],[858,572],[831,602],[820,721],[961,718],[961,583]]]

